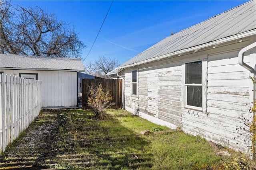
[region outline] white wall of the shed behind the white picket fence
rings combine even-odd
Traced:
[[[4,74],[35,73],[42,80],[42,107],[67,107],[77,105],[77,72],[5,70]]]

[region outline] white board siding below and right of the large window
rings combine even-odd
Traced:
[[[246,152],[244,137],[234,140],[237,126],[244,126],[239,117],[248,118],[250,103],[250,74],[238,64],[238,52],[208,55],[207,111],[183,109],[182,124],[185,132]]]

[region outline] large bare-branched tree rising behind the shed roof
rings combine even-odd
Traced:
[[[68,23],[39,7],[14,8],[1,1],[0,51],[18,55],[81,57],[86,47]],[[14,12],[16,11],[16,13]]]

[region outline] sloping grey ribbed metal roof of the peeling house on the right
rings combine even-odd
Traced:
[[[246,2],[245,4],[166,37],[121,64],[118,68],[124,68],[130,64],[141,63],[142,61],[207,44],[253,29],[256,29],[256,0]]]

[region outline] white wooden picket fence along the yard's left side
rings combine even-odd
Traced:
[[[0,96],[0,150],[4,151],[38,116],[42,82],[1,74]]]

